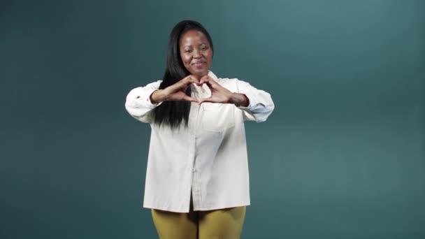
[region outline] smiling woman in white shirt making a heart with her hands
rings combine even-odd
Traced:
[[[199,22],[171,31],[163,80],[132,89],[125,107],[150,123],[144,208],[162,239],[240,238],[250,205],[245,120],[264,122],[270,94],[209,69]]]

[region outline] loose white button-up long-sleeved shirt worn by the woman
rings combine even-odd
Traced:
[[[144,208],[189,212],[192,190],[194,210],[216,210],[250,205],[250,180],[244,120],[264,122],[274,109],[270,94],[238,79],[210,77],[231,92],[243,93],[250,106],[191,103],[187,127],[171,131],[153,124],[152,110],[159,104],[150,95],[161,80],[131,89],[125,107],[141,122],[150,123],[149,155]],[[206,84],[192,84],[192,97],[211,95]]]

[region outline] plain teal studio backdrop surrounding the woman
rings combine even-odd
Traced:
[[[247,123],[242,238],[425,238],[425,1],[0,1],[0,238],[157,238],[124,109],[198,20]]]

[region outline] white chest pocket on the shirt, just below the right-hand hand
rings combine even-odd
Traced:
[[[201,128],[205,131],[222,133],[235,126],[235,110],[231,104],[202,103]]]

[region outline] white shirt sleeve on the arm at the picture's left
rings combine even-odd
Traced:
[[[161,102],[156,104],[152,103],[150,101],[150,95],[152,92],[159,89],[159,85],[161,85],[161,80],[152,82],[145,87],[131,89],[125,101],[127,112],[141,122],[153,122],[152,110],[161,105]]]

